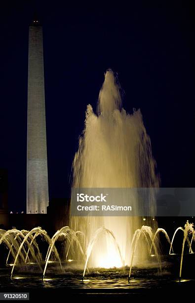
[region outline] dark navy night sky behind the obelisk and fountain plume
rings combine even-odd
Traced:
[[[0,167],[26,207],[28,30],[36,1],[0,4]],[[91,1],[92,3],[93,1]],[[141,108],[162,187],[195,187],[195,9],[190,1],[37,1],[43,26],[49,197],[69,196],[88,103],[112,68]]]

